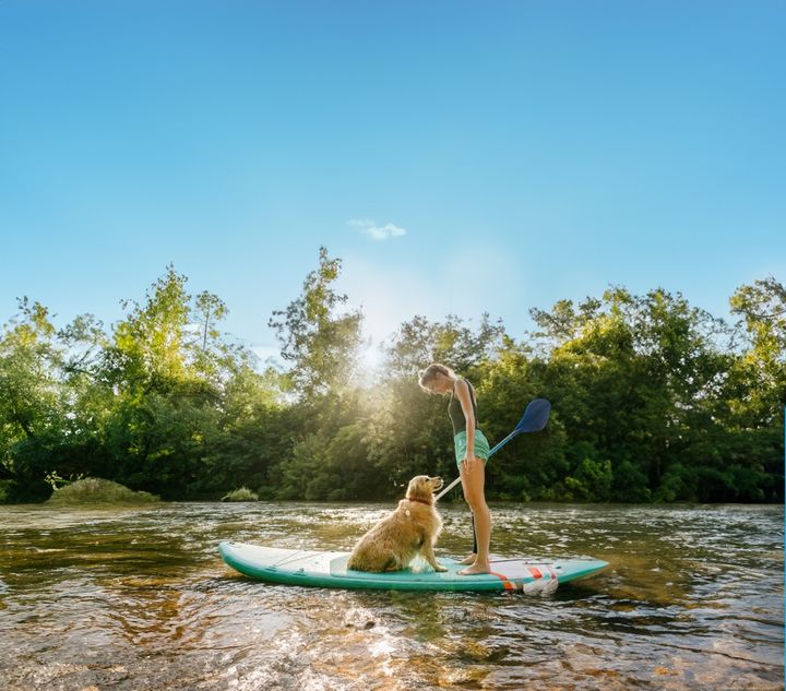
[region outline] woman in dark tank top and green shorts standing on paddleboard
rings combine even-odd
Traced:
[[[473,513],[473,553],[462,563],[468,564],[457,573],[473,575],[488,573],[491,514],[486,505],[486,461],[489,444],[477,428],[477,403],[474,386],[444,365],[429,365],[419,372],[421,389],[428,393],[451,394],[448,415],[453,424],[456,464],[462,478],[464,498]]]

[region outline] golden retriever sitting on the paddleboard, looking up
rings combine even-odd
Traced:
[[[355,571],[398,571],[420,555],[434,571],[448,571],[437,563],[433,546],[442,529],[433,492],[442,478],[418,475],[409,480],[406,499],[364,535],[347,561]]]

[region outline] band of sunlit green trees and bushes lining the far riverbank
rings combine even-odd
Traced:
[[[0,503],[72,482],[55,491],[64,497],[85,477],[163,500],[237,488],[260,500],[396,498],[414,475],[455,475],[448,401],[417,385],[431,361],[475,384],[492,442],[532,398],[552,404],[543,432],[495,457],[490,500],[784,501],[786,288],[774,277],[735,291],[735,323],[679,293],[619,286],[532,308],[523,334],[488,314],[414,315],[370,372],[340,273],[320,248],[301,294],[273,313],[283,365],[223,333],[227,306],[190,295],[171,265],[109,327],[92,314],[56,325],[20,299],[0,331]]]

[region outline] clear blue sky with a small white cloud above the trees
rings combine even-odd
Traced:
[[[416,313],[786,279],[786,4],[0,1],[0,321],[169,262],[261,355],[317,264]]]

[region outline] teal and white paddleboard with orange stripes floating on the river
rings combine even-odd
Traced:
[[[311,585],[333,588],[377,588],[392,591],[525,591],[553,592],[568,583],[598,573],[608,563],[597,559],[532,561],[523,559],[491,560],[491,573],[458,575],[463,569],[453,559],[437,558],[448,569],[437,573],[427,564],[385,573],[367,573],[346,568],[349,552],[278,549],[221,543],[222,559],[240,573],[287,585]]]

